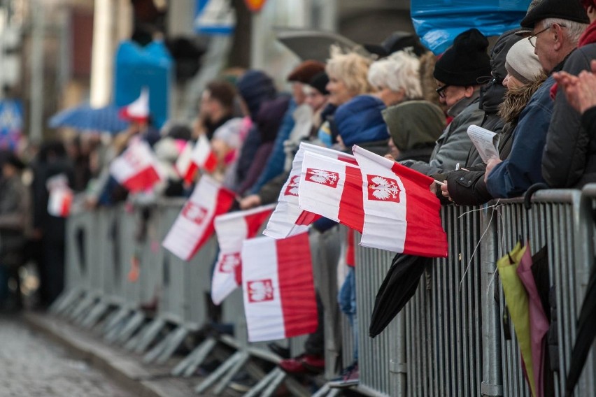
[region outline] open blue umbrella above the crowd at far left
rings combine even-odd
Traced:
[[[69,127],[116,133],[127,129],[128,122],[118,117],[118,108],[113,105],[104,108],[92,108],[85,104],[56,113],[50,118],[49,125],[52,128]]]

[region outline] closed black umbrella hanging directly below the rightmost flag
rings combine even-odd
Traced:
[[[396,254],[391,267],[376,293],[374,309],[371,315],[369,335],[374,338],[402,311],[406,303],[416,293],[420,276],[431,258],[414,255]]]

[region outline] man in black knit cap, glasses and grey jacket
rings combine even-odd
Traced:
[[[490,59],[486,49],[488,40],[477,29],[459,34],[434,66],[437,93],[441,103],[448,106],[448,115],[455,117],[437,140],[431,159],[402,161],[425,175],[455,169],[455,164],[466,161],[471,141],[467,128],[481,124],[484,111],[478,108],[480,85],[478,81],[490,77]]]

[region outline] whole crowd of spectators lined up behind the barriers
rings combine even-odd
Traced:
[[[15,270],[29,257],[39,266],[41,304],[62,291],[64,218],[48,214],[48,180],[66,175],[86,208],[188,196],[192,185],[175,164],[179,143],[199,136],[208,138],[217,158],[211,176],[236,193],[234,210],[277,201],[302,141],[346,152],[359,145],[399,161],[442,181],[437,196],[444,205],[516,197],[537,183],[581,188],[596,182],[595,21],[594,0],[534,0],[520,28],[502,34],[490,51],[477,29],[462,32],[439,57],[402,32],[369,50],[332,47],[327,63],[304,60],[292,70],[290,94],[278,92],[262,71],[224,73],[206,85],[193,124],[158,131],[150,117],[141,117],[108,144],[83,136],[68,150],[62,143],[43,145],[28,164],[30,189],[21,178],[26,164],[8,154],[0,180],[0,301],[6,303],[7,280],[18,279]],[[498,158],[482,159],[467,133],[471,125],[497,133]],[[134,139],[145,140],[169,170],[151,192],[129,194],[108,171]],[[335,225],[319,219],[311,233],[323,235]],[[353,241],[347,246],[350,270],[338,303],[356,332]],[[325,310],[320,296],[318,303]],[[309,336],[305,354],[280,366],[288,373],[321,371],[322,332],[320,326]],[[355,346],[340,380],[347,384],[357,380]]]

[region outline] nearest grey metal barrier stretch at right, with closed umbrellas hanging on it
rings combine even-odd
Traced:
[[[504,296],[495,275],[497,259],[521,238],[530,241],[532,254],[548,247],[558,315],[555,396],[565,395],[576,318],[594,263],[590,211],[596,207],[596,185],[583,192],[537,192],[530,210],[522,199],[490,204],[441,210],[448,258],[433,261],[416,295],[374,340],[368,337],[369,319],[393,254],[357,248],[361,391],[374,396],[530,396],[512,325],[511,340],[504,336]],[[343,354],[351,352],[344,349]],[[594,356],[574,396],[594,395]]]

